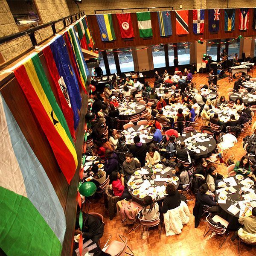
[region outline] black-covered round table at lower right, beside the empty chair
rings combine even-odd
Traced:
[[[244,179],[247,178],[247,176],[243,175],[244,176]],[[233,201],[236,201],[236,202],[239,202],[239,201],[244,201],[244,198],[242,197],[242,195],[244,194],[247,194],[248,192],[244,192],[242,195],[239,194],[239,191],[241,189],[241,187],[243,186],[242,184],[239,184],[238,183],[238,180],[236,178],[236,175],[235,176],[232,176],[234,177],[236,183],[237,183],[237,186],[233,186],[234,189],[236,189],[236,192],[234,194],[231,194],[230,191],[227,191],[229,192],[230,194],[227,194],[227,196],[230,196],[230,201],[226,200],[226,204],[219,204],[219,206],[221,207],[222,211],[221,211],[221,214],[220,216],[224,219],[226,219],[228,222],[229,222],[229,228],[231,230],[237,230],[238,227],[239,227],[239,222],[238,222],[238,219],[239,219],[239,213],[240,211],[234,215],[233,213],[231,213],[230,211],[228,211],[227,209],[231,206],[232,202]],[[255,181],[254,181],[255,183]],[[228,184],[227,184],[227,187],[230,187]],[[255,186],[252,186],[252,189],[254,190],[254,192],[256,193],[256,188]],[[218,202],[218,194],[215,192],[215,196],[216,196],[216,200]],[[240,209],[240,206],[239,204],[236,205],[236,207],[238,207]]]

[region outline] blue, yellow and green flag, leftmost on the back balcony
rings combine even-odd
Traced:
[[[116,35],[112,22],[111,14],[97,14],[96,19],[99,25],[99,31],[102,41],[116,40]]]

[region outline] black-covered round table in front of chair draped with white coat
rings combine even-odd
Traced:
[[[165,166],[164,164],[162,164],[162,165],[163,165],[163,170],[164,170],[167,166]],[[147,169],[147,170],[149,171],[149,174],[148,174],[148,175],[151,176],[151,174],[150,174],[150,168],[148,168],[148,166],[144,166],[143,168]],[[154,167],[153,167],[153,168],[154,168]],[[155,175],[160,175],[161,177],[163,176],[163,178],[167,178],[167,175],[168,175],[168,174],[170,175],[170,177],[175,176],[175,175],[172,173],[172,171],[174,170],[174,168],[173,168],[173,167],[170,167],[170,168],[171,168],[171,169],[170,169],[168,172],[166,172],[165,174],[163,174],[163,175],[161,175],[160,172],[157,172]],[[153,170],[154,170],[154,169],[153,169]],[[141,176],[141,175],[140,175],[140,176]],[[137,176],[137,177],[140,177],[140,176]],[[141,176],[141,179],[143,179],[143,181],[144,181],[143,176],[144,176],[144,175]],[[135,178],[134,180],[136,181],[137,179]],[[148,181],[150,181],[150,180],[152,180],[151,177],[150,177],[150,179],[149,179]],[[175,189],[177,189],[178,186],[180,185],[180,179],[179,179],[178,181],[176,181],[176,182],[177,182],[177,185],[171,183],[171,184],[173,184],[173,186],[175,186]],[[155,181],[154,184],[151,185],[151,187],[163,186],[164,183],[165,183],[165,181]],[[167,182],[166,182],[166,183],[167,183]],[[131,197],[132,197],[133,201],[137,201],[137,202],[139,202],[139,203],[141,204],[141,203],[143,202],[143,199],[139,198],[138,196],[133,195],[132,192],[133,192],[134,189],[132,189],[130,186],[127,185],[127,188],[128,188],[128,192],[131,194]],[[165,196],[162,197],[162,198],[159,197],[159,199],[158,199],[158,200],[155,200],[155,201],[161,201],[161,200],[163,200],[164,198],[165,198]]]

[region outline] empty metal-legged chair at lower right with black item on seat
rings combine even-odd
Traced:
[[[213,225],[210,222],[210,219],[212,219],[216,223],[220,222],[224,227],[218,227],[218,226]],[[208,234],[209,231],[212,231],[215,234],[220,235],[220,236],[224,236],[226,234],[226,237],[224,236],[224,240],[220,241],[219,248],[221,248],[222,245],[224,244],[224,242],[226,241],[228,235],[229,235],[229,232],[227,230],[227,227],[228,227],[229,223],[226,220],[224,220],[224,218],[221,218],[218,215],[215,215],[214,217],[211,218],[211,213],[209,213],[209,215],[206,217],[206,221],[207,221],[207,226],[206,226],[206,228],[204,230],[204,237]],[[207,230],[207,227],[209,228],[209,230],[207,231],[207,233],[205,233],[206,230]]]

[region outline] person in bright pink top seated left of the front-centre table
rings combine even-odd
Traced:
[[[119,172],[112,172],[112,190],[115,196],[119,196],[120,199],[131,199],[131,195],[128,189],[125,187],[124,177]]]

